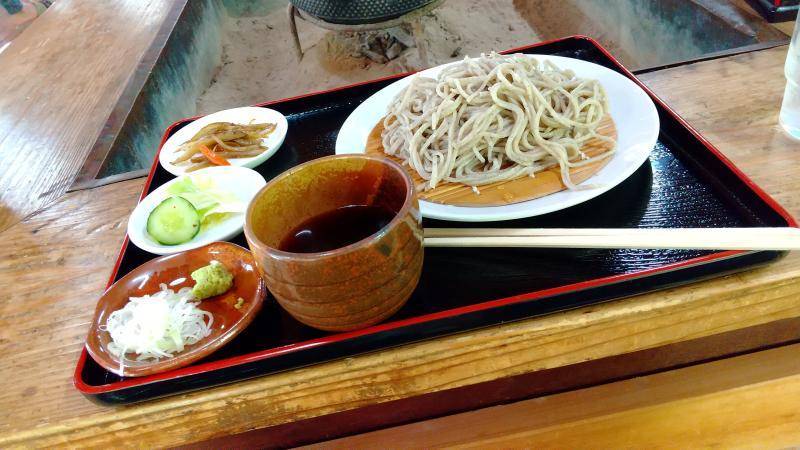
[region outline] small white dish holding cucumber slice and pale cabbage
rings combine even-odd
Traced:
[[[178,180],[182,180],[184,177],[194,176],[212,177],[217,186],[228,189],[242,201],[244,204],[242,212],[229,215],[225,220],[214,224],[213,227],[201,229],[200,232],[197,233],[197,236],[192,238],[189,242],[179,245],[163,245],[158,243],[147,233],[147,218],[159,203],[169,197],[167,193],[169,186]],[[255,197],[256,193],[266,184],[267,182],[264,180],[264,177],[255,170],[237,166],[207,167],[189,174],[181,175],[159,186],[158,189],[151,192],[144,200],[139,202],[133,210],[133,213],[131,213],[131,217],[128,219],[128,237],[130,237],[131,242],[137,247],[157,255],[169,255],[202,247],[215,241],[231,239],[242,232],[247,205],[250,203],[250,200]]]

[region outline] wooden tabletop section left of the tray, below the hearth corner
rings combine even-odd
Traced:
[[[70,366],[142,182],[69,193],[0,234],[0,435],[103,410],[75,390]]]

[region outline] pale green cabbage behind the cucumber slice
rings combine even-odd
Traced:
[[[220,220],[224,218],[222,215],[242,213],[245,209],[245,204],[235,195],[220,189],[211,177],[202,174],[178,178],[167,192],[191,203],[200,214],[201,223]]]

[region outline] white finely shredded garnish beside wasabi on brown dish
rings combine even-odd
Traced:
[[[111,335],[109,352],[119,358],[119,375],[128,352],[138,354],[137,361],[172,357],[211,334],[214,317],[197,307],[191,288],[175,292],[166,284],[160,286],[153,295],[131,297],[124,308],[108,316],[104,329]]]

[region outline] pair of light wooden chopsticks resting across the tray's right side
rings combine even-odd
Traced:
[[[800,250],[800,229],[426,228],[425,246]]]

